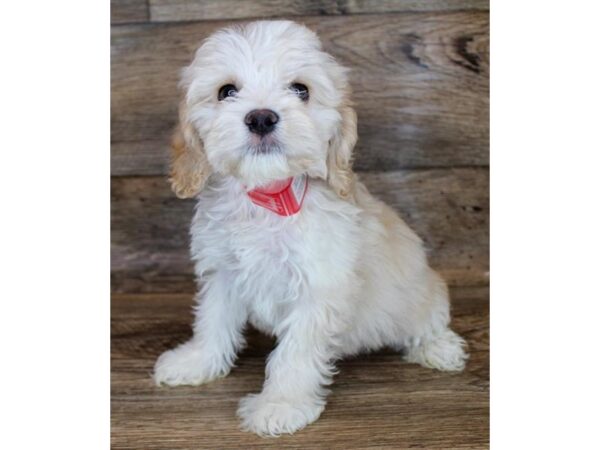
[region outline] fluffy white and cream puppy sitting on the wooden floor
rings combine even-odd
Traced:
[[[184,69],[171,183],[195,197],[191,255],[200,286],[194,336],[160,356],[158,384],[226,376],[247,323],[276,336],[242,427],[293,433],[325,407],[334,363],[391,346],[409,362],[460,371],[465,343],[421,240],[352,171],[356,114],[347,70],[289,21],[218,31]],[[282,216],[248,191],[306,176]],[[296,178],[298,179],[298,178]]]

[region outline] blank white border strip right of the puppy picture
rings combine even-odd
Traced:
[[[600,448],[599,20],[492,5],[492,448]]]

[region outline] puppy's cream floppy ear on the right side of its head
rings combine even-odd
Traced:
[[[341,198],[354,192],[355,175],[352,171],[352,150],[356,144],[356,112],[348,102],[340,108],[341,123],[329,141],[327,181]]]

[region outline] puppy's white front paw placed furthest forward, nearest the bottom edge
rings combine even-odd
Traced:
[[[242,429],[259,436],[293,434],[319,418],[322,404],[292,402],[269,397],[266,394],[250,394],[240,401],[237,414]]]

